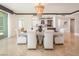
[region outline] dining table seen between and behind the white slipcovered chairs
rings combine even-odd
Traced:
[[[61,35],[61,33],[55,32],[55,31],[53,32],[53,43],[55,43],[55,37],[57,37],[58,35]],[[20,33],[20,36],[24,36],[24,37],[26,37],[26,40],[28,40],[27,32]],[[42,31],[42,32],[36,31],[36,38],[37,38],[37,43],[42,45],[43,39],[44,39],[44,31]]]

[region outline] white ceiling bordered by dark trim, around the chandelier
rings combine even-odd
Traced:
[[[35,13],[34,3],[1,3],[16,13]],[[45,13],[70,13],[79,10],[79,3],[44,3]]]

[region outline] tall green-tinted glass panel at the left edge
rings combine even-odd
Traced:
[[[3,26],[2,28],[0,27],[0,29],[2,29],[2,32],[4,33],[4,35],[0,36],[0,39],[3,39],[8,37],[8,14],[0,11],[0,19],[2,19],[2,21],[0,21],[0,25]]]

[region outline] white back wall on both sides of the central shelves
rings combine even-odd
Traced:
[[[24,21],[24,28],[26,30],[28,30],[30,28],[30,26],[32,26],[32,21],[33,21],[33,18],[34,16],[33,15],[16,15],[16,22],[18,20],[23,20]],[[35,16],[36,17],[36,16]],[[63,16],[57,16],[57,15],[44,15],[43,17],[53,17],[52,20],[54,19],[54,27],[58,28],[58,20],[60,19],[61,23],[60,23],[60,28],[63,27],[63,22],[64,22],[64,17]],[[38,19],[37,19],[38,20]],[[17,24],[16,24],[17,25]]]

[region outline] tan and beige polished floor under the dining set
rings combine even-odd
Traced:
[[[2,56],[78,56],[79,37],[65,33],[64,45],[55,45],[54,50],[44,50],[38,46],[36,50],[28,50],[26,45],[17,45],[16,37],[0,40],[0,55]]]

